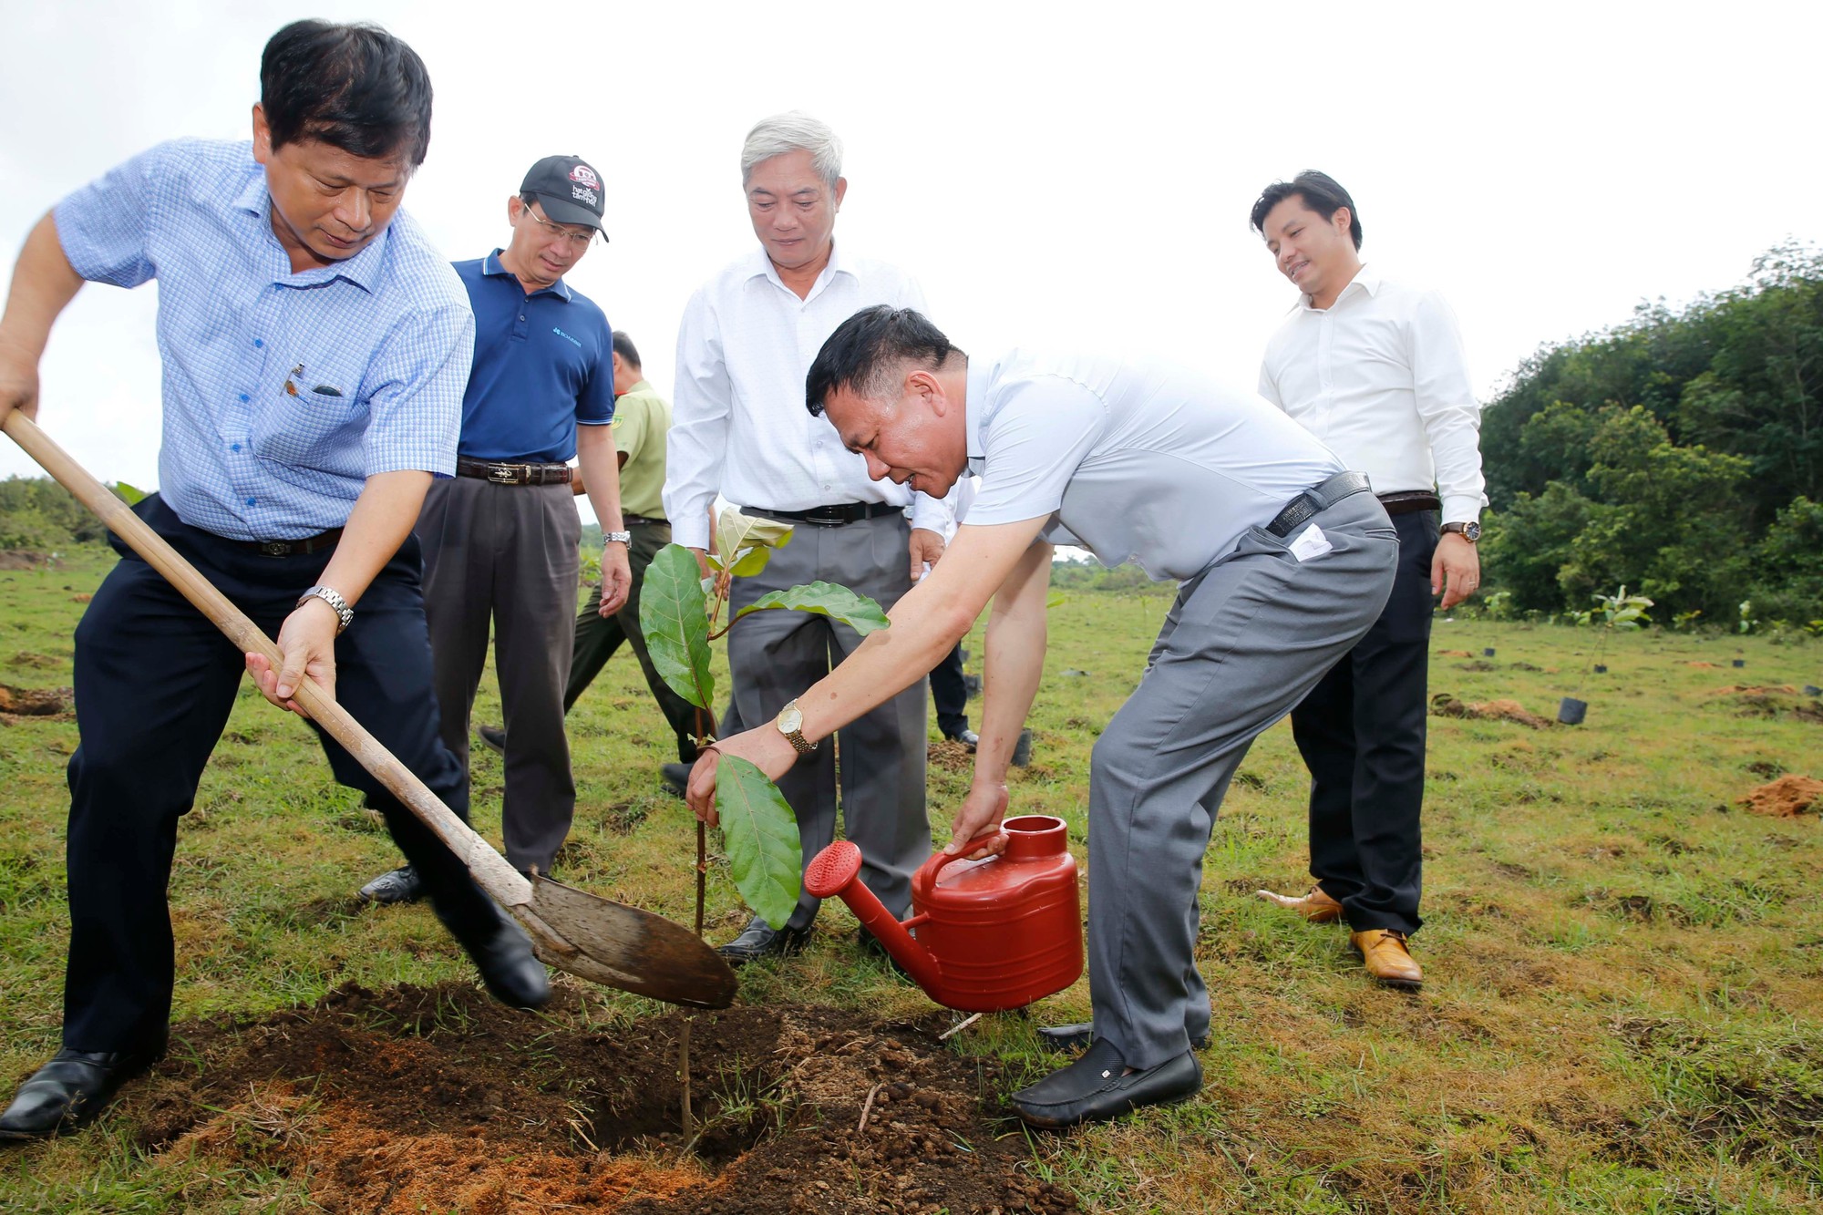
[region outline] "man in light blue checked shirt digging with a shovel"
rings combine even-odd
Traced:
[[[159,279],[160,493],[139,516],[277,635],[241,655],[117,542],[77,628],[64,1049],[0,1115],[35,1138],[98,1113],[164,1053],[177,819],[244,670],[295,708],[312,679],[454,810],[412,522],[456,465],[474,343],[461,283],[399,201],[430,142],[423,60],[376,27],[295,22],[266,44],[253,140],[173,140],[33,230],[0,319],[0,418],[36,410],[38,358],[84,279]],[[549,994],[530,941],[430,828],[324,737],[386,815],[438,916],[507,1003]]]

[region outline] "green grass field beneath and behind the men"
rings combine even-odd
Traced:
[[[77,600],[108,564],[80,553],[58,569],[0,573],[0,680],[69,682]],[[1077,848],[1090,742],[1136,684],[1163,608],[1072,593],[1052,613],[1034,764],[1014,805],[1063,815]],[[1823,1210],[1823,825],[1737,805],[1779,774],[1823,777],[1823,721],[1797,715],[1810,704],[1797,695],[1721,691],[1823,682],[1823,644],[1622,633],[1606,648],[1608,673],[1584,677],[1593,642],[1557,628],[1435,628],[1433,693],[1553,717],[1581,688],[1590,710],[1577,728],[1431,719],[1418,994],[1373,987],[1342,929],[1252,898],[1307,885],[1305,777],[1289,730],[1263,735],[1205,865],[1200,965],[1216,1018],[1203,1095],[1030,1137],[1026,1168],[1101,1211]],[[478,713],[494,711],[489,688]],[[691,830],[658,786],[665,730],[631,657],[571,722],[582,797],[560,876],[687,921]],[[75,744],[69,721],[0,726],[7,1095],[58,1044]],[[498,839],[498,757],[476,752],[474,783],[478,826]],[[941,825],[964,786],[966,774],[933,766]],[[428,912],[350,898],[392,863],[385,832],[332,783],[304,726],[246,690],[182,825],[177,1018],[261,1014],[348,980],[470,980]],[[746,914],[722,874],[709,898],[720,940]],[[824,919],[851,923],[842,909]],[[587,1000],[651,1011],[600,989]],[[837,930],[802,958],[749,969],[742,1000],[881,1016],[930,1007]],[[1034,1016],[1087,1012],[1085,981]],[[997,1056],[1003,1091],[1054,1065],[1019,1016],[984,1018],[950,1045]],[[0,1153],[0,1210],[315,1208],[306,1177],[144,1149],[117,1116]]]

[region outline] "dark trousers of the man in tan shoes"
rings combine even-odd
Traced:
[[[1311,770],[1311,876],[1356,932],[1416,932],[1437,514],[1395,514],[1398,573],[1367,635],[1291,710]]]

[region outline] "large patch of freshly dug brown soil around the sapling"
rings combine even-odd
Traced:
[[[335,1215],[1076,1208],[1025,1171],[997,1064],[941,1044],[941,1012],[693,1014],[693,1151],[678,1137],[684,1014],[598,1018],[569,989],[532,1016],[467,985],[350,983],[257,1022],[180,1025],[113,1116],[151,1153],[301,1177]]]

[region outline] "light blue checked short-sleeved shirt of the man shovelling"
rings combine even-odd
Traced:
[[[292,274],[253,146],[182,139],[58,202],[57,235],[84,279],[159,279],[159,489],[191,527],[297,540],[346,524],[376,472],[454,472],[474,314],[403,210]]]

